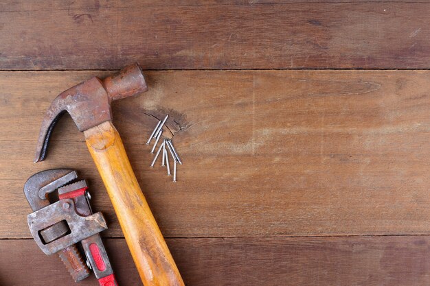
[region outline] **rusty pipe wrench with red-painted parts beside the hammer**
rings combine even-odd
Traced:
[[[59,255],[75,282],[90,274],[76,243],[81,243],[96,278],[109,277],[115,282],[99,235],[107,228],[106,222],[101,213],[92,213],[87,182],[76,182],[77,177],[71,169],[51,169],[27,180],[24,193],[34,211],[27,217],[30,233],[45,254]],[[58,191],[59,200],[50,204],[48,194],[54,191]]]

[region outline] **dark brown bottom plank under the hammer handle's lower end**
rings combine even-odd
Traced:
[[[186,285],[429,285],[430,238],[168,239]],[[140,285],[123,239],[106,241],[120,285]],[[0,241],[1,285],[75,285],[31,240]],[[80,285],[96,285],[88,278]]]

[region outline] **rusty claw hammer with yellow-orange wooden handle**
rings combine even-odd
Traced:
[[[68,112],[85,141],[145,286],[184,285],[181,274],[155,222],[112,124],[111,102],[148,91],[142,69],[131,64],[104,80],[94,77],[60,93],[43,119],[36,147],[37,163],[45,158],[49,137]]]

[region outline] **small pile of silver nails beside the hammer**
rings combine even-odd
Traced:
[[[161,120],[158,121],[157,126],[155,126],[154,131],[152,131],[151,136],[149,137],[148,141],[146,142],[146,145],[149,145],[150,141],[152,139],[155,139],[154,146],[152,147],[152,150],[151,150],[152,154],[154,153],[155,148],[157,147],[157,144],[161,138],[161,135],[163,134],[163,126],[166,123],[168,117],[169,117],[169,115],[166,115],[166,117],[164,118],[163,121],[161,121]],[[169,150],[170,156],[172,156],[172,159],[173,159],[173,182],[176,182],[177,181],[177,176],[176,176],[177,163],[182,165],[182,161],[181,161],[181,158],[179,158],[178,153],[176,152],[176,150],[173,147],[172,140],[163,139],[163,142],[161,143],[161,145],[159,145],[157,153],[155,154],[154,160],[152,160],[151,167],[154,167],[155,162],[157,161],[159,154],[162,153],[162,155],[161,155],[162,156],[161,166],[167,167],[168,176],[172,175],[172,174],[170,174],[169,156],[168,156],[167,150]]]

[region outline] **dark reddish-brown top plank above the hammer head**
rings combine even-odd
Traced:
[[[287,2],[5,1],[0,69],[430,66],[430,3]]]

